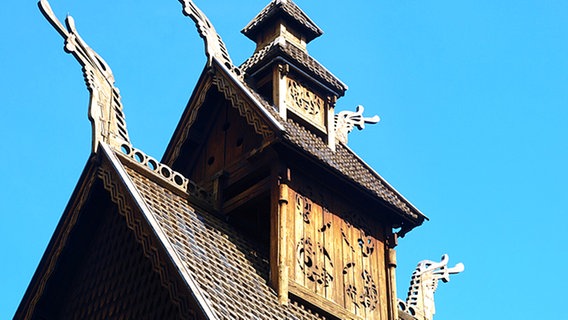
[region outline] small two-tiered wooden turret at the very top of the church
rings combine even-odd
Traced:
[[[241,69],[284,120],[293,118],[335,148],[334,108],[347,86],[308,54],[323,31],[292,1],[275,0],[243,30],[256,50]]]

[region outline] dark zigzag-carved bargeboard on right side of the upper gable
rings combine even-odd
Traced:
[[[229,81],[219,75],[215,75],[213,78],[213,83],[217,89],[223,93],[225,99],[231,101],[233,107],[239,110],[239,114],[247,120],[247,123],[254,127],[256,133],[260,134],[264,138],[271,137],[274,132],[265,124],[257,112],[246,103],[244,99],[237,93],[237,90],[229,83]]]

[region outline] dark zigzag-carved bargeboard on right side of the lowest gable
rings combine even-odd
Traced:
[[[182,298],[185,295],[182,294],[177,281],[168,276],[168,274],[172,274],[175,271],[168,268],[168,265],[160,255],[158,247],[154,244],[150,231],[142,223],[139,215],[134,213],[130,201],[124,196],[123,190],[116,183],[116,181],[119,181],[119,177],[114,172],[103,167],[99,168],[98,175],[103,181],[105,190],[110,193],[112,201],[118,205],[120,214],[126,218],[128,228],[134,231],[136,241],[142,245],[144,255],[150,259],[153,270],[159,274],[162,286],[168,290],[172,301],[179,306],[182,317],[184,319],[195,319],[195,314],[188,305],[188,299]]]

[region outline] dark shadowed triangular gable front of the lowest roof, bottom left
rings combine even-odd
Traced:
[[[76,254],[78,252],[82,253],[83,250],[85,250],[84,246],[86,240],[81,240],[82,232],[88,230],[90,233],[94,232],[95,235],[97,232],[107,232],[107,230],[100,230],[100,227],[98,228],[99,231],[97,231],[97,228],[95,228],[91,222],[92,219],[104,215],[120,215],[119,220],[122,219],[122,221],[125,221],[125,225],[127,226],[126,230],[128,230],[126,232],[132,232],[134,236],[130,237],[135,239],[136,244],[134,244],[134,246],[141,248],[144,256],[143,259],[146,259],[145,263],[148,264],[149,262],[149,267],[158,275],[157,278],[154,275],[154,279],[159,279],[159,285],[168,292],[167,295],[169,296],[170,302],[179,310],[182,318],[194,318],[193,315],[198,311],[196,309],[202,309],[199,312],[207,314],[206,305],[203,305],[201,308],[194,307],[202,305],[201,303],[195,302],[201,300],[199,292],[189,291],[192,288],[191,279],[189,278],[185,278],[188,284],[182,284],[185,276],[184,270],[176,266],[175,257],[168,253],[171,250],[168,248],[167,242],[161,241],[161,231],[154,227],[151,217],[144,214],[143,203],[137,201],[136,193],[130,192],[130,190],[132,190],[132,188],[129,187],[130,182],[128,179],[123,179],[125,177],[123,173],[124,168],[118,161],[114,151],[104,143],[101,143],[97,150],[98,152],[92,154],[85,167],[81,180],[50,240],[48,248],[20,303],[15,318],[37,318],[46,311],[45,308],[51,308],[51,304],[45,301],[60,301],[58,299],[61,299],[61,297],[54,297],[54,291],[50,291],[49,288],[57,289],[61,285],[61,281],[70,280],[66,278],[70,275],[65,274],[62,278],[58,270],[68,270],[71,271],[71,273],[80,274],[84,273],[84,270],[91,268],[90,265],[84,264],[88,261],[83,262],[83,264],[79,263],[80,261],[77,260]],[[102,196],[103,194],[105,194],[105,196]],[[113,207],[104,205],[103,203],[106,202],[104,202],[105,200],[103,198],[110,199],[109,202],[114,203]],[[116,217],[113,217],[111,220],[115,221]],[[124,231],[125,229],[116,232]],[[114,235],[116,235],[116,232],[114,232]],[[103,235],[103,237],[107,236],[108,235]],[[90,239],[88,241],[90,241]],[[122,244],[116,243],[116,245]],[[108,255],[110,253],[105,252],[104,254]],[[140,257],[136,259],[139,260]],[[174,260],[172,261],[172,259]],[[110,266],[111,269],[119,265],[118,261],[111,261],[104,264],[105,268]],[[129,270],[132,272],[135,269]],[[120,276],[119,273],[113,272],[112,270],[105,270],[104,272],[109,277]],[[143,285],[138,279],[132,279],[132,277],[138,276],[140,275],[130,273],[129,276],[123,276],[123,280],[136,286]],[[105,278],[104,283],[92,283],[94,287],[89,289],[90,292],[97,294],[119,292],[110,287],[114,281],[106,282],[106,279],[108,278]],[[122,285],[128,284],[122,283]],[[132,290],[132,288],[130,290]],[[81,299],[81,297],[76,298]],[[109,298],[110,296],[108,296],[106,300],[103,300],[109,302]],[[119,299],[118,296],[115,296],[112,303],[109,302],[104,308],[102,305],[92,305],[93,301],[87,299],[83,302],[79,301],[79,303],[84,305],[77,311],[81,314],[86,312],[86,314],[90,314],[89,317],[97,316],[105,318],[105,316],[103,316],[104,314],[119,315],[124,310],[116,309],[118,306],[125,308],[132,308],[136,305],[140,306],[141,301],[135,302],[128,300],[130,298],[121,296]],[[146,299],[147,298],[148,297],[146,297]],[[144,297],[141,299],[143,300]],[[67,306],[64,308],[67,308]],[[127,313],[129,313],[129,311],[127,311]]]

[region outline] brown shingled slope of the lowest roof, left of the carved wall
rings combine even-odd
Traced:
[[[118,155],[120,164],[115,165],[132,183],[129,193],[149,209],[147,218],[157,222],[157,233],[173,249],[170,254],[183,264],[180,267],[197,284],[202,303],[218,319],[324,319],[297,302],[278,303],[268,284],[267,248],[196,207],[188,194],[171,191],[148,167]]]

